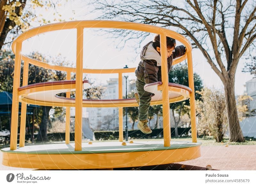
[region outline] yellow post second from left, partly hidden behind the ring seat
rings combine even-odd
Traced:
[[[24,61],[23,66],[23,80],[22,86],[28,85],[28,61]],[[26,115],[27,115],[27,104],[21,103],[21,116],[20,116],[20,147],[25,146],[25,132],[26,132]]]

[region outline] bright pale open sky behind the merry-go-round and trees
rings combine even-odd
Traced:
[[[61,14],[61,19],[69,20],[90,20],[97,17],[97,13],[85,16],[88,11],[87,7],[81,5],[80,1],[72,1],[72,3],[64,3],[57,6],[58,14]],[[53,10],[40,11],[42,17],[46,20],[56,18]],[[38,26],[37,24],[32,27]],[[174,30],[175,31],[175,30]],[[144,44],[153,39],[154,35],[150,35],[142,41],[141,48]],[[84,67],[95,69],[108,69],[108,68],[123,68],[125,65],[128,67],[136,67],[140,62],[139,50],[135,51],[132,47],[138,43],[130,40],[123,49],[117,49],[116,46],[123,45],[118,43],[113,38],[108,38],[108,35],[100,29],[84,29]],[[180,43],[177,42],[177,45]],[[61,54],[69,61],[76,61],[76,30],[61,30],[35,36],[23,42],[22,53],[29,54],[32,51],[39,51],[42,54],[56,56]],[[212,70],[211,66],[207,63],[199,49],[193,49],[193,70],[199,74],[203,80],[204,86],[208,88],[223,89],[223,84],[220,78]],[[245,57],[242,57],[237,70],[235,79],[235,94],[241,95],[244,93],[244,84],[253,78],[249,73],[242,73],[242,68],[246,62]],[[135,79],[135,74],[130,73],[129,79]],[[97,79],[99,82],[105,84],[109,78],[117,77],[116,74],[94,74],[90,75],[91,78]]]

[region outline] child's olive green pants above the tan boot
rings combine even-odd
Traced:
[[[144,78],[142,80],[136,79],[136,89],[140,97],[140,105],[139,105],[139,120],[147,120],[148,119],[148,109],[151,101],[151,92],[147,92],[144,90],[144,86],[146,85]]]

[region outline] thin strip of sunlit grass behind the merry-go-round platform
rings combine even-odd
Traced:
[[[162,141],[163,139],[131,139],[132,141]],[[129,141],[131,141],[129,140]],[[117,140],[105,140],[106,142],[110,141],[117,141]],[[192,138],[188,136],[181,136],[181,137],[172,137],[171,141],[186,141],[186,142],[192,142]],[[87,142],[87,141],[84,141]],[[95,141],[95,142],[104,142],[104,141]],[[256,139],[253,137],[245,137],[245,141],[242,143],[238,142],[229,142],[228,137],[224,138],[224,141],[221,143],[217,143],[215,139],[212,136],[204,136],[197,138],[197,142],[202,143],[202,146],[223,146],[223,145],[256,145]],[[51,144],[52,142],[46,142],[46,143],[35,143],[35,145],[41,145],[41,144]],[[61,143],[61,142],[59,142]],[[71,142],[74,143],[74,142]],[[33,143],[25,143],[26,145],[33,145]],[[0,144],[0,149],[10,147],[10,144]]]

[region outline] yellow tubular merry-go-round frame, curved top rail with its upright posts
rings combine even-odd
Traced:
[[[15,57],[14,65],[14,81],[13,81],[13,103],[12,103],[12,125],[11,125],[11,144],[10,149],[17,149],[17,133],[18,133],[18,111],[19,111],[19,91],[20,87],[20,66],[21,59],[24,60],[24,72],[22,86],[28,85],[28,65],[33,64],[39,67],[65,71],[67,72],[67,80],[70,80],[71,73],[76,73],[76,113],[75,113],[75,150],[82,150],[82,77],[83,73],[88,74],[118,74],[118,90],[119,99],[122,98],[122,74],[134,72],[135,68],[122,68],[122,69],[83,69],[83,38],[84,28],[115,28],[115,29],[130,29],[143,32],[151,32],[160,34],[161,43],[161,60],[162,60],[162,93],[163,98],[163,128],[164,128],[164,146],[170,146],[171,131],[170,131],[170,107],[168,99],[168,72],[167,72],[167,55],[166,55],[166,36],[172,37],[181,43],[186,48],[186,54],[181,58],[175,59],[173,65],[180,63],[188,58],[188,81],[189,87],[192,89],[190,93],[190,112],[191,112],[191,128],[192,128],[192,142],[196,142],[196,112],[195,112],[195,94],[194,94],[194,79],[193,79],[193,67],[192,67],[192,46],[190,42],[182,35],[162,27],[156,27],[152,25],[146,25],[141,23],[132,23],[124,21],[107,21],[107,20],[86,20],[86,21],[70,21],[44,25],[30,29],[20,34],[12,43],[12,50]],[[22,42],[32,36],[40,35],[43,33],[63,30],[63,29],[76,29],[76,68],[51,65],[38,61],[36,59],[29,58],[26,55],[21,54]],[[70,97],[70,93],[67,92],[67,97]],[[26,123],[26,108],[27,104],[21,104],[21,120],[20,120],[20,147],[25,144],[25,123]],[[123,108],[119,107],[119,141],[123,141]],[[66,112],[66,143],[69,143],[69,107]]]

